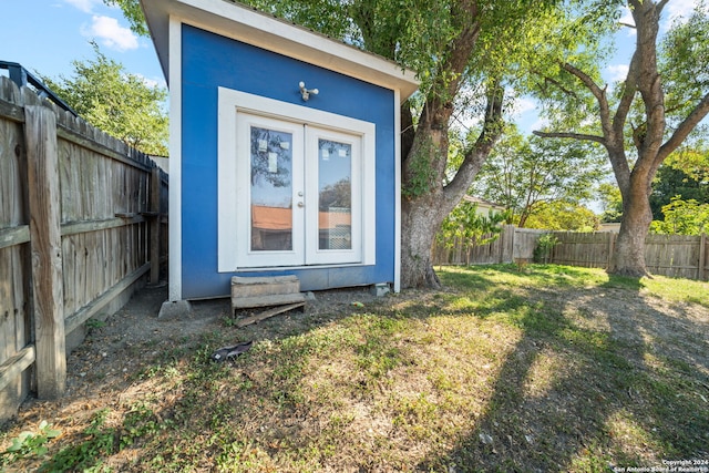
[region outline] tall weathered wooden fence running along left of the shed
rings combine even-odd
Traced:
[[[68,340],[157,282],[166,225],[146,155],[0,76],[0,420],[62,395]]]

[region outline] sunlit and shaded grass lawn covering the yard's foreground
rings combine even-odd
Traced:
[[[0,465],[607,472],[685,460],[709,471],[709,284],[551,265],[439,274],[440,292],[242,329],[254,347],[228,363],[208,360],[234,340],[226,315],[171,350],[134,347],[148,362],[103,405],[43,419],[61,435],[6,429],[0,449],[21,448]]]

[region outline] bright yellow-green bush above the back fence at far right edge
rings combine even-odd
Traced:
[[[709,204],[679,196],[662,206],[664,220],[653,220],[650,232],[664,235],[701,235],[709,229]]]

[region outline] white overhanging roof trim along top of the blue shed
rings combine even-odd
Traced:
[[[376,54],[240,3],[226,0],[141,0],[163,73],[169,78],[168,19],[287,55],[323,69],[401,92],[407,100],[419,89],[414,73]]]

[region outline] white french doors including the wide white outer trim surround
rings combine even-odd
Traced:
[[[374,265],[374,124],[218,94],[218,270]]]

